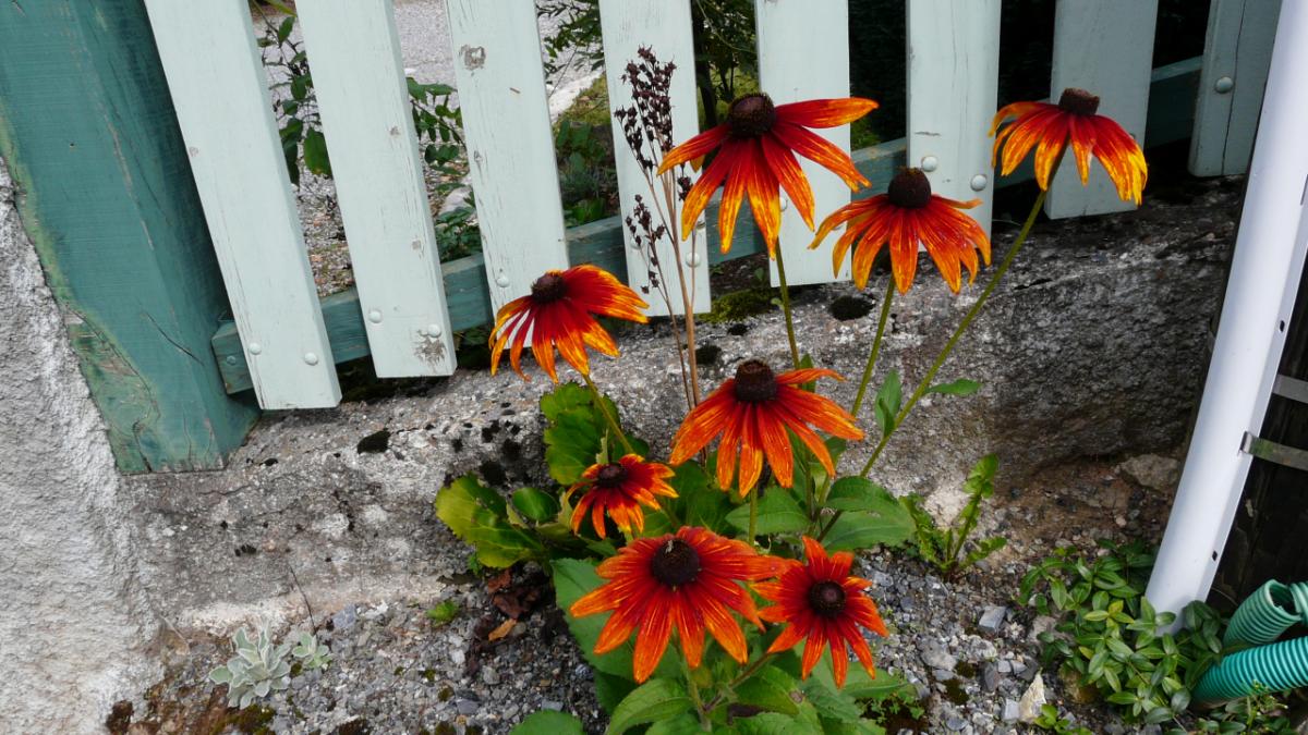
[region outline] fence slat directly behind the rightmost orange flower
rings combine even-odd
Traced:
[[[1117,120],[1144,143],[1148,84],[1154,59],[1158,0],[1058,0],[1054,12],[1054,55],[1050,97],[1066,88],[1086,89],[1100,98],[1099,114]],[[1096,162],[1090,186],[1082,187],[1071,161],[1059,166],[1049,187],[1045,213],[1076,217],[1129,212],[1131,201],[1117,190]]]

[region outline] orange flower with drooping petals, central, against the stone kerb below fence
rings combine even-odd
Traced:
[[[799,387],[818,378],[841,379],[832,370],[814,368],[773,375],[766,362],[742,362],[735,378],[723,381],[681,421],[672,438],[670,464],[685,462],[713,437],[722,434],[718,443],[718,487],[723,490],[731,487],[739,446],[742,497],[759,481],[764,455],[777,483],[789,488],[794,484],[794,458],[790,437],[786,436],[786,429],[790,429],[821,462],[827,473],[833,475],[836,468],[827,445],[808,425],[846,439],[861,439],[863,432],[854,425],[854,417],[835,402]]]

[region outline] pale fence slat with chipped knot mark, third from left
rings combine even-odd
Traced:
[[[446,0],[490,303],[568,267],[532,0]]]

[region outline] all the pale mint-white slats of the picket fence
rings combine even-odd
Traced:
[[[640,46],[653,47],[681,69],[671,90],[679,140],[697,132],[689,1],[600,0],[610,103],[629,103],[619,77]],[[335,405],[335,360],[247,3],[145,4],[259,404]],[[1230,174],[1248,165],[1274,4],[1211,1],[1194,173]],[[1058,0],[1053,94],[1091,89],[1103,112],[1143,137],[1156,5]],[[446,7],[487,288],[498,307],[527,293],[544,269],[569,264],[535,7],[532,0],[446,0]],[[377,374],[450,374],[450,315],[391,0],[300,0],[297,8]],[[756,14],[760,82],[773,99],[849,94],[845,0],[756,0]],[[995,182],[986,131],[995,110],[999,0],[908,0],[908,162],[926,170],[939,194],[985,201],[972,213],[989,228]],[[848,150],[848,128],[823,132]],[[616,127],[615,135],[627,213],[645,182]],[[849,201],[835,175],[807,163],[804,170],[819,216]],[[1088,190],[1062,177],[1048,213],[1129,207],[1099,177]],[[832,281],[828,254],[808,251],[810,238],[787,208],[781,247],[791,282]],[[704,309],[706,239],[683,254],[696,269],[696,303]],[[630,248],[627,256],[628,277],[641,285],[642,260]]]

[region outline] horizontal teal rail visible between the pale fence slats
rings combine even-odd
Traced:
[[[1198,56],[1154,69],[1150,92],[1150,110],[1146,140],[1163,145],[1185,140],[1194,122],[1194,90],[1199,80]],[[891,140],[854,152],[854,163],[872,184],[855,194],[855,199],[884,191],[895,173],[906,162],[905,140]],[[997,187],[1012,186],[1032,179],[1029,166],[1019,167],[1012,175],[997,178]],[[744,208],[749,205],[746,203]],[[736,228],[731,248],[722,254],[718,247],[717,201],[706,212],[709,234],[709,264],[764,252],[763,237],[747,213],[742,212],[743,226]],[[751,222],[746,225],[746,222]],[[610,217],[568,230],[568,258],[572,263],[594,263],[606,271],[621,273],[625,267],[621,220]],[[829,256],[829,251],[828,256]],[[490,323],[493,311],[485,285],[485,265],[481,255],[471,255],[445,263],[445,293],[450,305],[450,323],[455,331]],[[323,319],[332,343],[332,356],[337,362],[368,354],[364,339],[362,315],[353,290],[323,299]],[[222,324],[213,335],[213,352],[218,356],[228,391],[250,388],[250,377],[241,354],[232,322]]]

